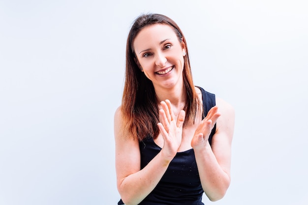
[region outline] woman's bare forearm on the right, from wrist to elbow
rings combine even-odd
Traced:
[[[195,150],[195,158],[205,194],[211,201],[221,199],[230,185],[230,176],[218,164],[210,144],[202,150]]]

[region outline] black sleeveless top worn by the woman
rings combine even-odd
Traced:
[[[199,88],[199,87],[198,87]],[[215,94],[200,88],[203,100],[203,118],[216,105]],[[214,126],[209,143],[215,134]],[[152,137],[139,142],[141,154],[141,169],[143,169],[161,150],[154,143]],[[200,182],[198,168],[193,149],[178,152],[170,162],[154,190],[139,205],[204,205],[202,201],[203,189]],[[123,205],[122,200],[118,205]]]

